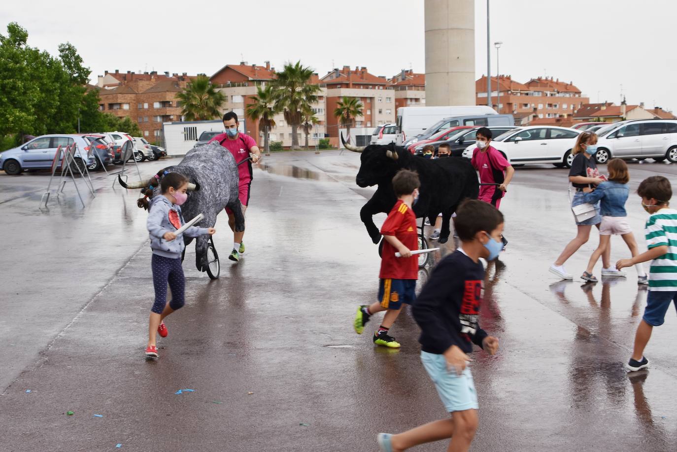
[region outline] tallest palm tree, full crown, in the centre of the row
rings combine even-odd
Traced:
[[[320,87],[310,83],[312,76],[313,70],[302,66],[300,61],[296,64],[289,62],[272,82],[278,107],[284,112],[284,121],[292,126],[292,149],[300,149],[297,131],[303,120],[301,108],[318,101]]]

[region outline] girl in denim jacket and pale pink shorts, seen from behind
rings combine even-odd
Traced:
[[[600,215],[602,215],[602,224],[599,228],[599,246],[590,256],[588,268],[581,276],[582,279],[593,283],[596,283],[597,279],[592,275],[592,269],[600,255],[609,247],[612,235],[623,237],[633,258],[639,254],[637,242],[628,224],[628,213],[626,213],[626,201],[628,201],[628,194],[630,194],[628,165],[621,159],[612,159],[607,168],[609,169],[609,181],[602,182],[594,189],[583,189],[586,193],[584,194],[586,203],[594,204],[600,201]],[[637,282],[647,284],[649,281],[642,265],[637,264],[635,268],[637,269]]]

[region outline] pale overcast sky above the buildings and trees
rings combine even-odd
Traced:
[[[92,81],[116,69],[212,75],[242,58],[278,69],[301,60],[320,75],[344,64],[387,77],[425,71],[423,0],[210,3],[7,1],[0,33],[19,22],[29,45],[53,54],[70,41]],[[552,76],[573,81],[590,102],[616,104],[622,85],[628,104],[677,110],[675,18],[674,0],[491,0],[491,41],[503,41],[501,73],[518,81]],[[486,24],[486,0],[475,0],[478,77],[487,67]]]

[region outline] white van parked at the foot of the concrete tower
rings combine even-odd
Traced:
[[[397,109],[396,143],[401,146],[441,119],[468,115],[498,115],[498,112],[486,105],[400,107]]]

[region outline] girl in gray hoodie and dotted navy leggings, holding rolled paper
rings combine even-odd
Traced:
[[[150,247],[153,250],[151,266],[153,270],[153,287],[155,288],[155,302],[150,310],[148,322],[148,346],[146,356],[158,357],[156,333],[167,337],[167,327],[163,320],[166,316],[181,308],[184,304],[183,293],[185,281],[181,266],[181,253],[185,248],[183,235],[177,236],[175,231],[181,227],[181,204],[188,199],[188,179],[179,173],[166,174],[160,182],[162,196],[154,197],[148,207],[148,233]],[[183,234],[188,237],[213,235],[214,228],[197,228],[190,226]],[[172,300],[167,304],[167,283],[171,288]]]

